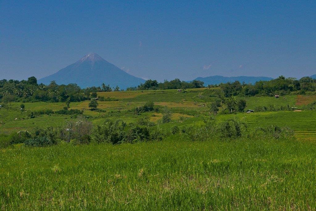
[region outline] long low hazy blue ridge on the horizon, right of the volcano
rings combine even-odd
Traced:
[[[197,77],[195,80],[203,81],[204,85],[215,85],[220,83],[239,81],[240,83],[245,82],[246,84],[255,84],[257,81],[268,81],[272,80],[270,77],[255,77],[255,76],[237,76],[237,77],[224,77],[221,75],[214,75],[209,77]]]

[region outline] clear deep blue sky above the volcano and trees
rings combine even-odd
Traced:
[[[144,79],[316,74],[316,1],[0,0],[0,78],[89,52]]]

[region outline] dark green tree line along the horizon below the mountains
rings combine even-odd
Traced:
[[[129,87],[126,90],[164,90],[164,89],[188,89],[203,88],[204,82],[193,80],[191,82],[174,79],[171,81],[157,82],[157,80],[146,80],[137,87]],[[316,79],[303,77],[301,79],[285,78],[280,76],[270,81],[258,81],[255,84],[245,84],[239,81],[209,85],[208,87],[220,87],[224,97],[231,96],[274,96],[286,94],[305,94],[316,91]],[[32,76],[27,80],[0,80],[0,101],[8,102],[79,102],[90,100],[92,93],[106,91],[123,91],[116,86],[102,84],[101,86],[87,87],[81,89],[77,84],[58,85],[52,81],[49,85],[38,84],[37,79]],[[221,98],[221,96],[219,96]]]

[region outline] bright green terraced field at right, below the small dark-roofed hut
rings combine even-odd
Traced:
[[[237,117],[245,120],[250,129],[261,126],[277,125],[289,127],[301,140],[316,141],[316,111],[279,111],[252,114],[217,115],[219,120]]]

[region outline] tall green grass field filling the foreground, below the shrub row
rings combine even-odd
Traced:
[[[4,210],[315,210],[316,145],[296,140],[2,150]]]

